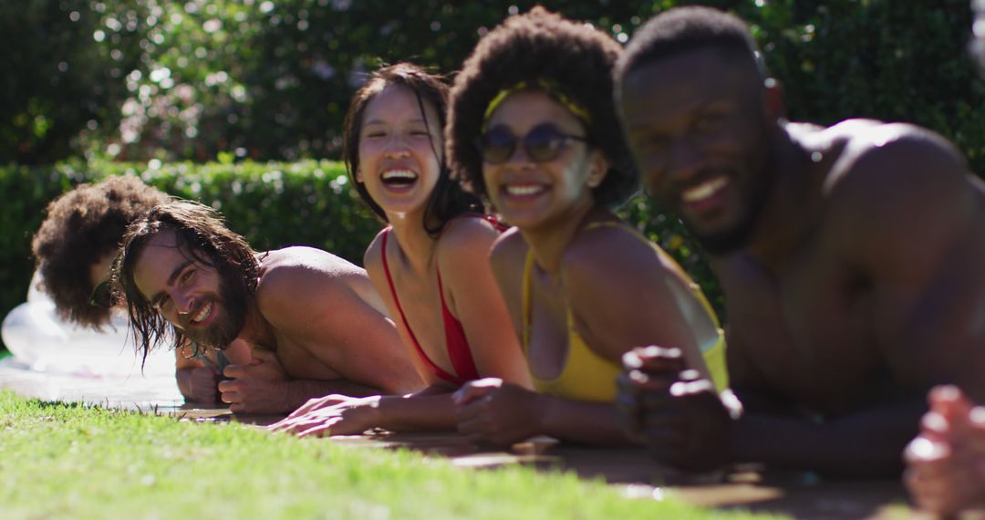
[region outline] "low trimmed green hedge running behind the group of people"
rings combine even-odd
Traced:
[[[0,193],[6,195],[6,210],[0,214],[0,264],[6,266],[0,272],[0,316],[25,300],[33,273],[31,237],[48,202],[81,182],[127,173],[172,195],[216,208],[230,228],[258,250],[310,245],[361,265],[362,252],[381,227],[349,185],[341,162],[151,161],[0,167]],[[631,200],[621,213],[670,251],[721,308],[714,276],[685,238],[677,219],[655,212],[643,197]]]

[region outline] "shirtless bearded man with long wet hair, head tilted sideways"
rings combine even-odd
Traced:
[[[234,413],[421,388],[365,271],[311,247],[258,253],[208,206],[153,208],[127,227],[114,273],[145,353],[168,338],[251,349],[219,383]]]

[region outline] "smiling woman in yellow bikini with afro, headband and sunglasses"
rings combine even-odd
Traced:
[[[489,32],[452,87],[452,170],[515,226],[493,246],[493,273],[536,388],[486,379],[457,392],[459,430],[474,439],[628,442],[614,402],[621,357],[636,346],[680,349],[697,375],[725,384],[721,331],[700,291],[611,211],[638,182],[612,99],[620,51],[535,8]]]

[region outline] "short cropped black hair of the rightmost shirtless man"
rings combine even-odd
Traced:
[[[622,93],[625,77],[636,68],[703,48],[746,59],[766,77],[753,34],[742,19],[710,7],[679,7],[651,18],[632,34],[616,65],[617,93]]]

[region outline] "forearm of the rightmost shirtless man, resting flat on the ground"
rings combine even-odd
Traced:
[[[733,460],[834,477],[895,477],[925,411],[910,402],[827,422],[747,413],[732,423]]]

